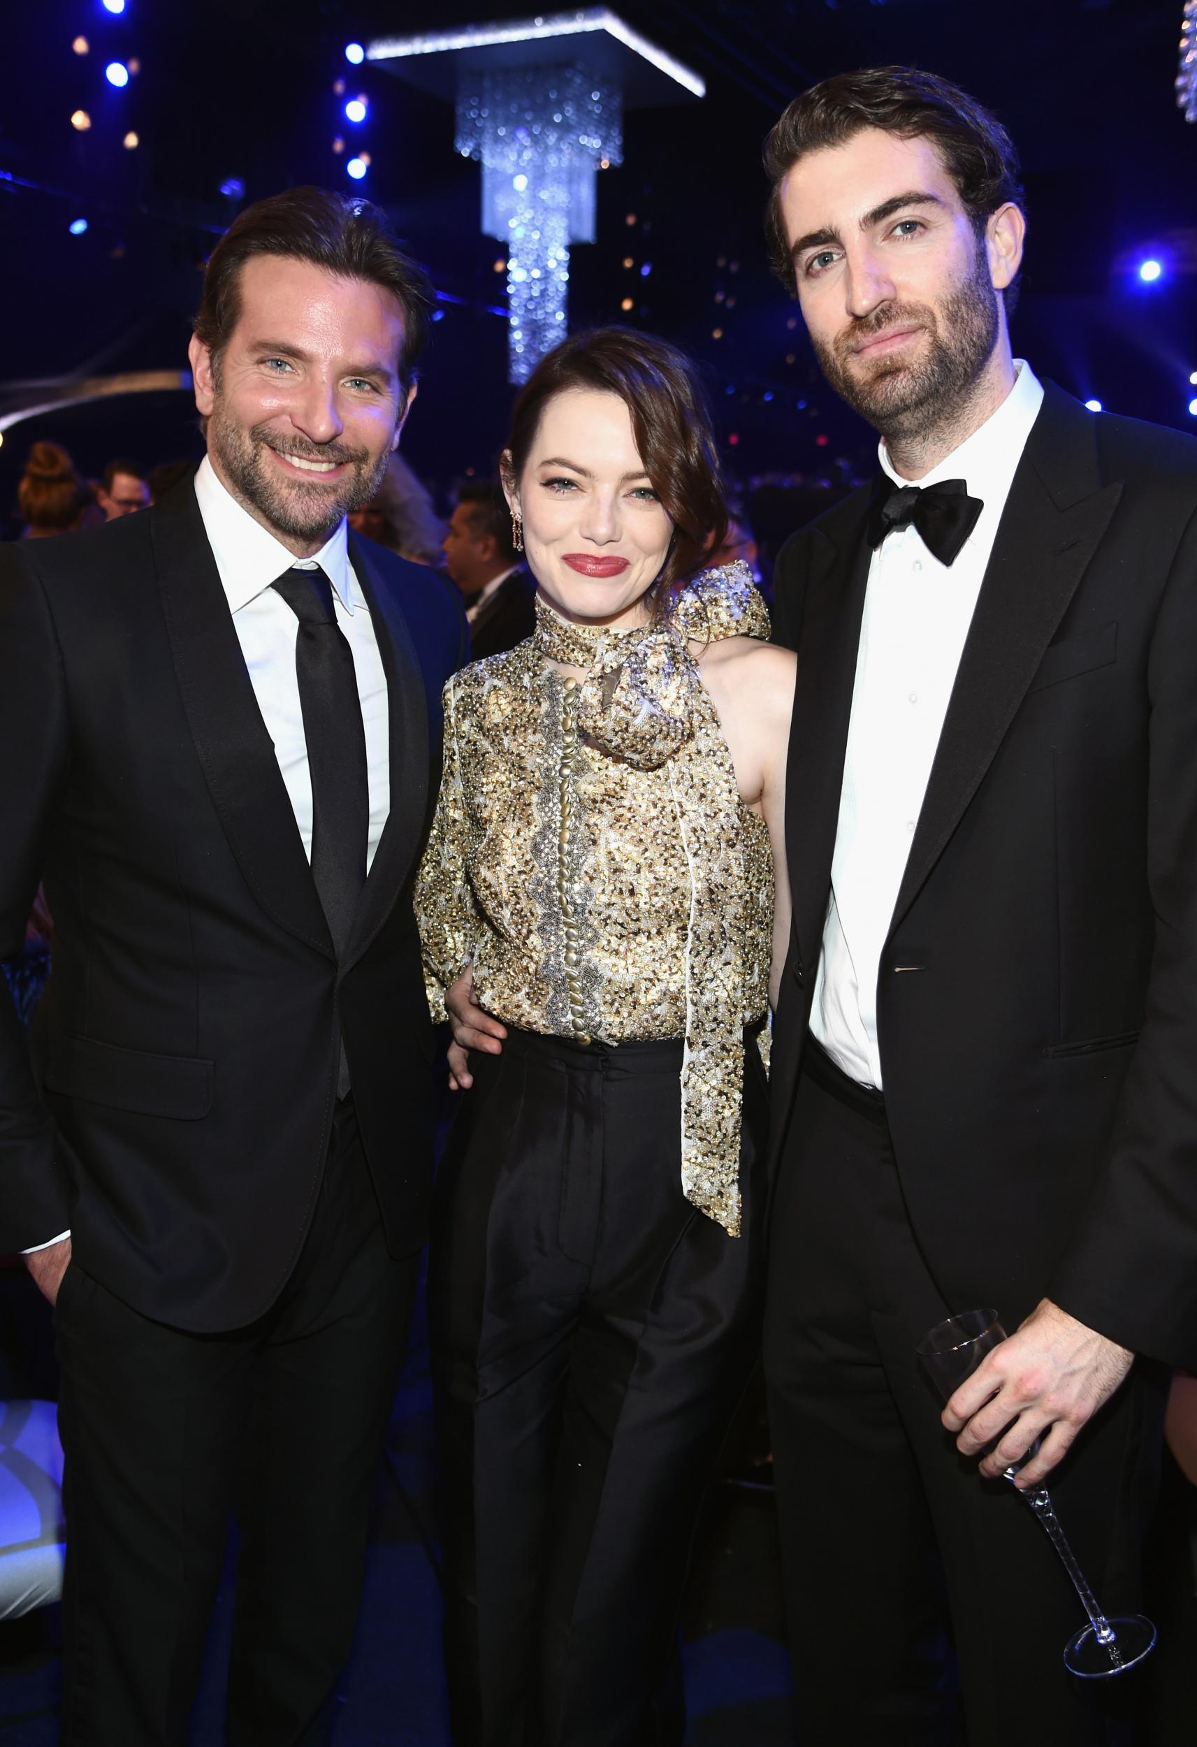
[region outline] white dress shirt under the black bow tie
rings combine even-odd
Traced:
[[[879,445],[881,466],[896,486],[963,479],[984,508],[954,564],[940,564],[910,526],[886,535],[868,568],[832,898],[811,1012],[821,1046],[861,1085],[881,1087],[881,949],[998,522],[1043,402],[1031,367],[1015,360],[1015,370],[996,412],[923,479],[902,479],[884,442]]]

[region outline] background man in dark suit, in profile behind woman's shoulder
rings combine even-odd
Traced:
[[[465,601],[474,660],[514,650],[533,634],[536,585],[515,550],[498,480],[472,479],[461,487],[442,550]]]

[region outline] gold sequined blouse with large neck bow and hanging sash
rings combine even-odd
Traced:
[[[437,1019],[472,963],[475,999],[522,1031],[685,1038],[682,1186],[736,1233],[743,1036],[769,1003],[772,854],[687,648],[729,636],[769,636],[741,563],[631,631],[568,624],[538,599],[531,638],[446,687],[416,915]]]

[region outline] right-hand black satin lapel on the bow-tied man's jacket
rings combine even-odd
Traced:
[[[998,526],[891,926],[993,763],[1120,493],[1118,480],[1101,487],[1092,416],[1048,384]]]

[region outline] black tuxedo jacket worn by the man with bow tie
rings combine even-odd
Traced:
[[[781,550],[799,653],[786,1125],[830,893],[874,487]],[[881,959],[886,1109],[954,1310],[1043,1296],[1197,1368],[1197,442],[1048,384]]]

